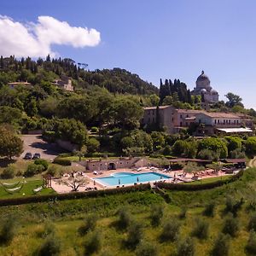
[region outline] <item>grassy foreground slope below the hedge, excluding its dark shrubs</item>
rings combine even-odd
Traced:
[[[256,169],[250,169],[236,182],[216,189],[194,192],[166,191],[171,197],[171,203],[166,203],[161,195],[148,190],[72,201],[0,207],[0,223],[3,224],[10,216],[16,216],[18,219],[15,238],[8,246],[0,246],[0,255],[37,255],[38,247],[46,239],[40,234],[45,230],[45,221],[49,220],[55,225],[56,239],[61,242],[59,255],[90,255],[84,249],[90,233],[85,236],[79,236],[78,233],[79,226],[88,213],[98,218],[96,230],[99,230],[101,236],[99,251],[91,255],[137,255],[137,248],[131,249],[125,246],[127,230],[119,230],[116,226],[116,221],[119,219],[117,211],[119,207],[124,206],[127,212],[131,212],[131,218],[142,225],[142,241],[148,241],[154,246],[157,249],[156,255],[176,255],[177,244],[187,236],[191,236],[195,243],[195,255],[210,255],[214,241],[218,233],[223,230],[224,221],[228,216],[224,211],[227,195],[232,196],[236,201],[241,197],[244,199],[236,217],[239,230],[235,237],[229,239],[229,255],[246,255],[245,246],[249,237],[248,221],[255,212],[249,206],[256,205],[255,189]],[[213,217],[206,217],[202,212],[211,201],[216,204],[215,214]],[[153,226],[150,221],[151,207],[155,204],[164,207],[164,216],[158,226]],[[186,217],[181,219],[179,214],[183,207],[188,211]],[[204,219],[209,224],[208,236],[205,239],[191,235],[198,219]],[[168,220],[181,224],[176,241],[160,240],[163,225]]]

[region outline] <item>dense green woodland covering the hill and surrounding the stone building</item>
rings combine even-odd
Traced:
[[[215,138],[215,141],[212,138],[211,145],[208,142],[202,146],[202,143],[189,137],[189,130],[170,136],[159,125],[142,127],[143,106],[162,104],[176,108],[201,108],[201,97],[191,96],[187,85],[179,79],[174,79],[173,83],[171,79],[166,79],[164,83],[160,79],[158,89],[124,69],[88,71],[84,67],[84,64],[76,64],[71,59],[50,59],[49,56],[45,61],[34,61],[29,57],[19,61],[14,56],[1,57],[2,143],[11,141],[11,134],[16,136],[15,133],[20,131],[42,130],[49,141],[61,138],[78,144],[79,148],[83,148],[83,154],[102,152],[218,159],[256,152],[254,146],[248,148],[247,137],[239,138],[236,148],[229,148],[230,138]],[[72,78],[73,92],[53,84],[61,74]],[[27,81],[32,85],[9,88],[8,83],[15,81]],[[253,109],[243,108],[241,97],[232,93],[226,97],[227,102],[218,102],[212,106],[212,111],[256,116]],[[16,148],[20,148],[20,142],[15,137],[13,141],[18,143]],[[219,143],[221,146],[216,146]],[[208,151],[202,151],[205,149]],[[2,152],[7,152],[7,149]],[[19,154],[15,150],[8,152],[11,153],[0,154],[9,158]]]

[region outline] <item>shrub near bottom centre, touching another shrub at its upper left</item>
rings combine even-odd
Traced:
[[[134,249],[137,247],[139,242],[143,238],[143,229],[141,224],[137,222],[132,222],[128,228],[127,238],[126,238],[126,245]]]

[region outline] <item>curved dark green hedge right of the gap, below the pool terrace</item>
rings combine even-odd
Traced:
[[[186,184],[186,183],[163,183],[158,182],[155,183],[160,189],[170,189],[170,190],[186,190],[186,191],[195,191],[195,190],[203,190],[203,189],[214,189],[224,184],[231,183],[239,179],[243,175],[243,171],[238,172],[236,175],[230,177],[225,180],[218,180],[212,183],[202,183],[202,184]]]

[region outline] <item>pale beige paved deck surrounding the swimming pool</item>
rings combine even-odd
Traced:
[[[226,174],[220,172],[220,175],[217,173],[213,173],[213,170],[207,170],[205,172],[202,172],[201,175],[199,175],[200,179],[208,178],[208,177],[219,177],[224,176]],[[175,180],[173,181],[173,178],[168,179],[164,178],[163,182],[166,183],[183,183],[183,182],[191,182],[193,174],[192,173],[187,173],[185,176],[183,175],[183,170],[177,170],[177,171],[169,171],[169,172],[162,172],[161,169],[159,168],[154,168],[150,169],[148,167],[142,167],[140,168],[140,171],[134,170],[134,169],[127,169],[127,168],[122,168],[122,169],[117,169],[117,170],[108,170],[108,171],[102,171],[102,172],[84,172],[84,177],[88,177],[90,182],[86,184],[84,187],[79,187],[79,192],[86,191],[85,189],[90,188],[90,189],[116,189],[122,186],[131,186],[133,184],[125,184],[125,185],[120,185],[120,186],[104,186],[102,183],[98,183],[94,178],[96,177],[108,177],[113,173],[116,172],[131,172],[131,173],[145,173],[145,172],[158,172],[163,175],[167,175],[170,177],[175,177]],[[148,183],[148,182],[147,182]],[[154,184],[154,181],[149,182],[151,185]],[[71,192],[71,188],[67,187],[64,184],[59,184],[55,180],[52,181],[52,188],[55,189],[57,193],[68,193]]]

